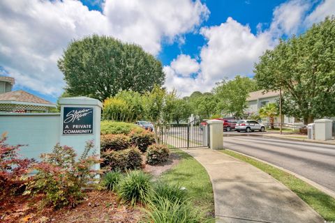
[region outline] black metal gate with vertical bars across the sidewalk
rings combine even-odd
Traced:
[[[168,124],[161,139],[176,148],[209,147],[209,125],[202,120]]]

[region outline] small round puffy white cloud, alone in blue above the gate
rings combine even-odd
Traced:
[[[177,74],[183,77],[189,77],[191,74],[198,72],[200,65],[198,61],[191,59],[191,56],[179,54],[177,59],[171,62],[171,68],[174,69]]]

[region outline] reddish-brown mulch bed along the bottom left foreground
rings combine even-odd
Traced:
[[[42,197],[8,198],[0,202],[0,222],[138,222],[143,213],[140,208],[122,206],[112,192],[89,191],[84,201],[75,208],[53,210],[42,208]]]

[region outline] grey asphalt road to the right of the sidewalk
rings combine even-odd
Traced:
[[[223,146],[304,176],[335,192],[335,146],[255,136],[223,138]]]

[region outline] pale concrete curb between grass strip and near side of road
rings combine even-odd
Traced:
[[[300,180],[303,180],[304,182],[308,183],[309,185],[312,185],[313,187],[317,188],[318,190],[324,192],[325,194],[327,194],[327,195],[329,195],[330,197],[333,197],[333,198],[335,199],[335,192],[333,192],[332,190],[329,190],[327,187],[324,187],[324,186],[322,186],[322,185],[316,183],[316,182],[313,181],[313,180],[310,180],[310,179],[308,179],[308,178],[306,178],[306,177],[304,177],[304,176],[301,176],[301,175],[299,175],[299,174],[295,174],[294,172],[292,172],[292,171],[290,171],[290,170],[288,170],[288,169],[285,169],[285,168],[283,168],[283,167],[278,167],[278,166],[275,165],[275,164],[271,164],[271,163],[269,163],[269,162],[267,162],[267,161],[265,161],[265,160],[258,159],[258,158],[256,158],[256,157],[251,156],[251,155],[246,155],[246,154],[244,154],[244,153],[239,153],[239,152],[237,152],[237,151],[233,151],[233,150],[231,150],[231,149],[229,149],[229,148],[225,148],[225,149],[228,150],[228,151],[232,151],[232,152],[234,152],[234,153],[238,153],[238,154],[240,154],[240,155],[244,155],[244,156],[246,156],[246,157],[252,158],[252,159],[254,159],[254,160],[258,160],[258,161],[260,161],[260,162],[264,162],[265,164],[268,164],[268,165],[270,165],[271,167],[275,167],[275,168],[277,168],[277,169],[280,169],[280,170],[282,170],[282,171],[285,171],[286,173],[291,174],[291,175],[293,175],[293,176],[299,178]]]

